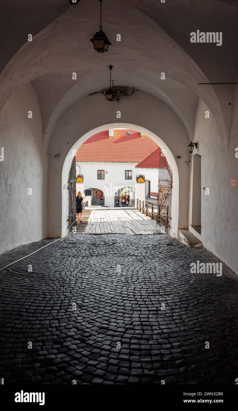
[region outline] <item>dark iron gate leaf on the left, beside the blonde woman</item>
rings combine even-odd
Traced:
[[[69,218],[68,222],[68,233],[72,231],[72,228],[76,226],[76,160],[73,157],[71,163],[71,168],[69,171],[68,180],[68,190],[69,190]]]

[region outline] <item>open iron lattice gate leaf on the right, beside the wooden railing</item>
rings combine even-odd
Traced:
[[[158,178],[158,202],[156,222],[162,232],[169,234],[171,217],[171,199],[173,187],[173,173],[167,159],[161,151]]]

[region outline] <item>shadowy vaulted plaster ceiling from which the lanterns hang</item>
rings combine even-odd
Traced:
[[[103,54],[89,42],[99,26],[98,0],[76,5],[69,0],[9,0],[1,5],[0,107],[32,82],[44,135],[70,106],[108,87],[111,64],[114,85],[134,86],[165,102],[181,118],[189,138],[199,97],[220,132],[229,136],[234,86],[198,83],[236,80],[238,2],[103,0],[102,5],[103,30],[112,43]],[[222,32],[222,46],[191,43],[190,32],[196,30]]]

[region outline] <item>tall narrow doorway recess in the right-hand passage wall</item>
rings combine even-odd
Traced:
[[[201,156],[193,156],[192,227],[201,234]]]

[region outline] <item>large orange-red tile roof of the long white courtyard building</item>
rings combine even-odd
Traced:
[[[126,132],[130,131],[127,135]],[[113,138],[108,130],[94,134],[80,145],[76,161],[139,163],[158,149],[148,136],[140,136],[133,130],[114,130]]]

